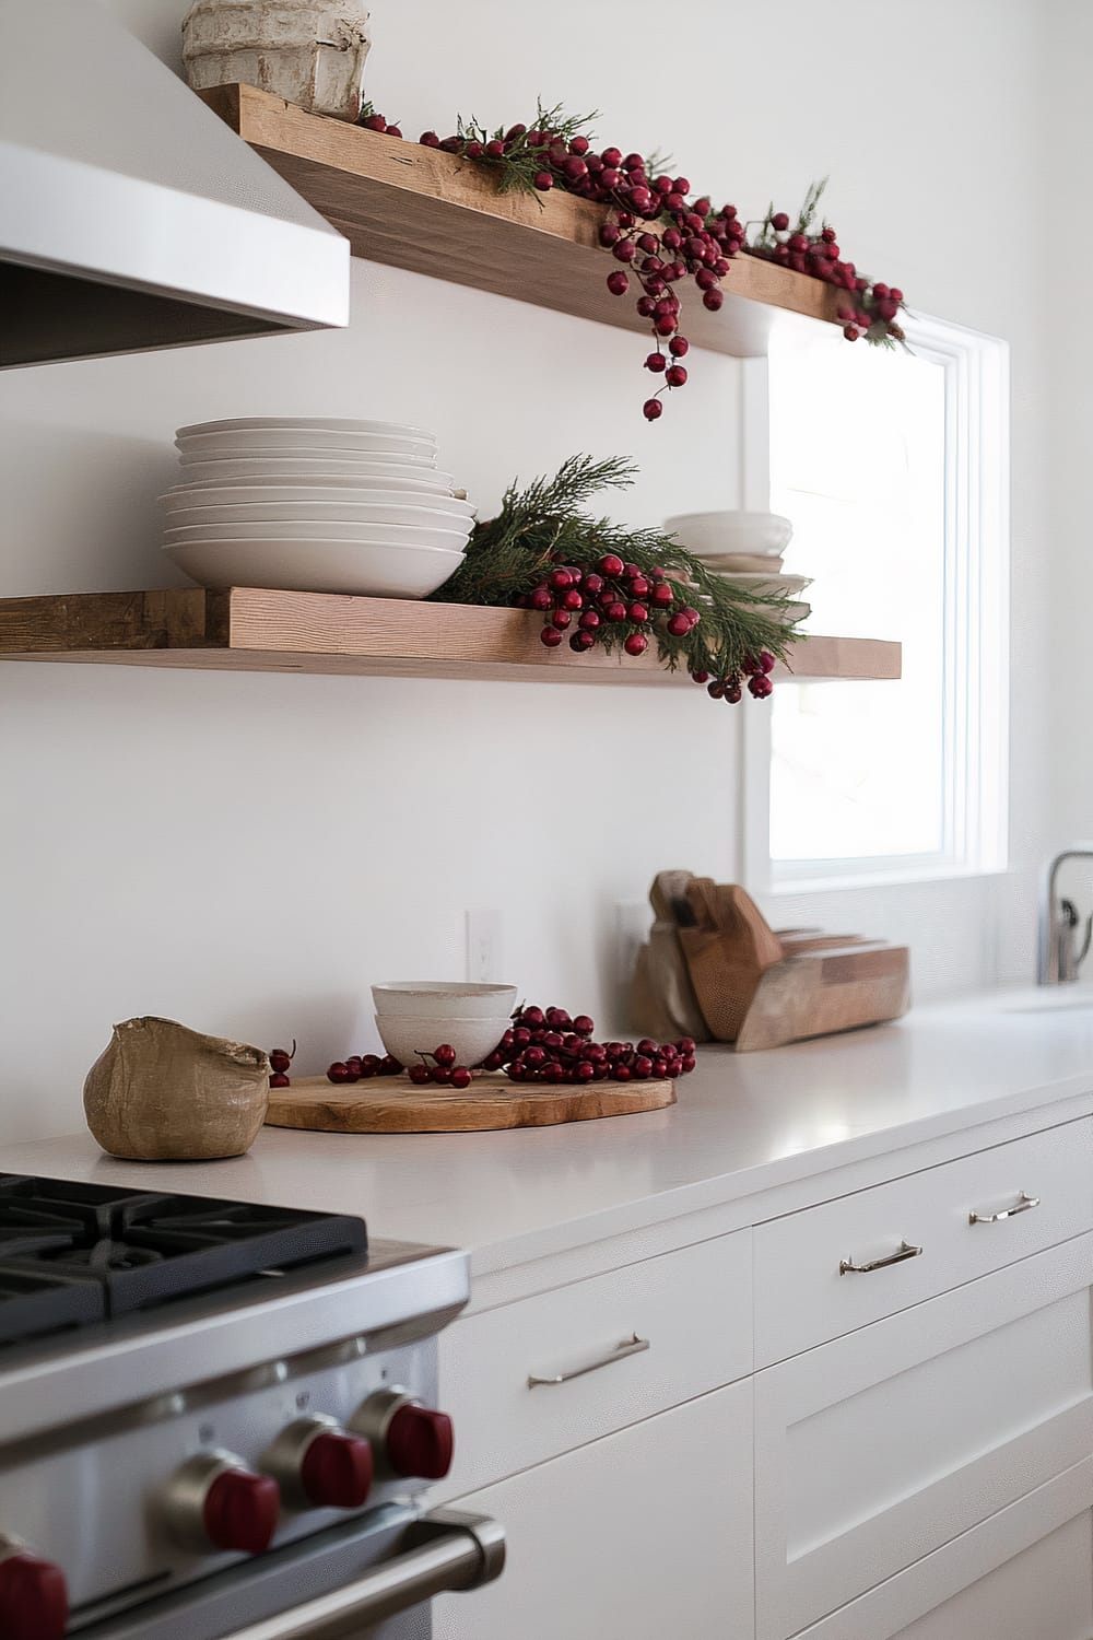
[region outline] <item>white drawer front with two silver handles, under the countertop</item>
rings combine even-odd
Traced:
[[[1024,1205],[1021,1192],[1037,1205]],[[1008,1217],[986,1222],[990,1214]],[[1093,1117],[773,1219],[755,1230],[755,1364],[782,1361],[1090,1228]],[[885,1263],[901,1243],[923,1251]],[[846,1263],[877,1268],[841,1273]]]

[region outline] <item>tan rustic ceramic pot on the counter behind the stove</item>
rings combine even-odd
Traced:
[[[111,1156],[208,1161],[251,1148],[269,1104],[261,1048],[174,1020],[115,1025],[84,1082],[87,1125]]]

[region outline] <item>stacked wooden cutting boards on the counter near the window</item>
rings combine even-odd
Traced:
[[[777,933],[737,884],[662,871],[649,892],[655,923],[634,979],[634,1014],[652,1035],[680,1032],[737,1051],[854,1030],[906,1014],[906,946]]]

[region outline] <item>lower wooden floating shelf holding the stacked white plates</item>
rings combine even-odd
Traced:
[[[651,653],[546,649],[539,625],[526,610],[331,592],[74,592],[0,599],[0,659],[693,689]],[[791,663],[798,679],[891,679],[900,669],[901,646],[878,638],[810,638]]]

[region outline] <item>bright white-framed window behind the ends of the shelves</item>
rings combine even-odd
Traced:
[[[770,505],[806,631],[898,638],[900,682],[780,684],[772,887],[1005,866],[1006,346],[775,338]]]

